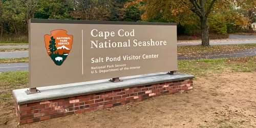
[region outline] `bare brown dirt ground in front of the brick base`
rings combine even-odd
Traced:
[[[208,74],[188,92],[20,127],[256,127],[255,78],[255,72]],[[0,127],[16,127],[13,105],[0,109]]]

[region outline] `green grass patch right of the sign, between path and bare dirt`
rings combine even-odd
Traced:
[[[179,72],[205,76],[208,73],[256,72],[256,56],[242,58],[219,58],[178,61]]]

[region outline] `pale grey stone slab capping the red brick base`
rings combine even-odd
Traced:
[[[162,82],[170,82],[177,80],[185,80],[194,78],[194,75],[188,74],[174,74],[169,75],[166,72],[136,75],[129,77],[122,77],[122,82],[110,82],[108,79],[79,82],[71,84],[61,84],[58,86],[48,86],[37,88],[40,93],[26,94],[25,91],[28,89],[17,89],[13,90],[13,97],[17,104],[25,104],[31,102],[39,102],[60,98],[67,98],[79,95],[87,95],[93,93],[100,93],[118,89],[125,89],[131,87],[139,87],[148,84],[156,84]]]

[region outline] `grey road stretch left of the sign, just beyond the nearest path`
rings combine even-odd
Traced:
[[[0,52],[0,58],[22,58],[29,57],[29,51]]]

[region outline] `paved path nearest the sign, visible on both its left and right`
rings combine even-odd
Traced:
[[[256,49],[241,50],[236,53],[215,53],[211,55],[201,54],[199,56],[178,56],[179,60],[188,60],[188,59],[202,59],[202,58],[231,58],[231,57],[246,57],[246,56],[256,56]],[[8,71],[27,71],[29,64],[25,62],[19,63],[2,63],[0,64],[0,72]]]

